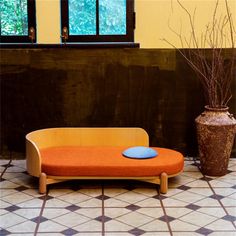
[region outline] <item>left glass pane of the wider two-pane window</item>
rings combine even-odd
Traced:
[[[69,0],[70,35],[96,35],[96,0]]]

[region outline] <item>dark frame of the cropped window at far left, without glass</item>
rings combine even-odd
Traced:
[[[36,11],[35,0],[27,0],[27,13],[28,13],[28,32],[30,27],[33,27],[36,32]],[[14,36],[14,35],[0,35],[1,43],[31,43],[32,40],[29,35]],[[36,33],[33,42],[36,42]]]

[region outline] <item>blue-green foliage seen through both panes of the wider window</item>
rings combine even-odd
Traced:
[[[70,35],[96,35],[96,0],[69,0]],[[99,0],[99,34],[126,34],[126,0]]]

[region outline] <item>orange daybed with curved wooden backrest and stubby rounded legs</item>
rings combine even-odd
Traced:
[[[183,170],[183,155],[153,147],[158,156],[136,160],[122,152],[132,146],[149,146],[141,128],[50,128],[26,136],[27,171],[39,177],[39,192],[47,184],[68,179],[137,179],[161,185]]]

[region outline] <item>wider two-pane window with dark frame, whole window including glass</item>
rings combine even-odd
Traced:
[[[133,42],[133,0],[61,0],[62,40]]]

